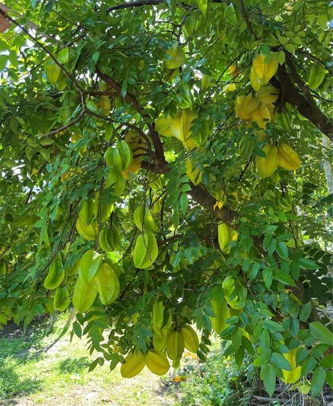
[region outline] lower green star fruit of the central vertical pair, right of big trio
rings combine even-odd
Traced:
[[[139,269],[148,268],[153,264],[158,255],[158,246],[153,232],[142,232],[135,243],[133,262]]]

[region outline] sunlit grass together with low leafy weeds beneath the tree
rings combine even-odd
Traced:
[[[70,343],[69,332],[58,339],[68,317],[60,314],[52,332],[45,320],[25,333],[13,326],[0,331],[1,406],[248,405],[242,382],[249,371],[222,361],[219,341],[206,364],[185,353],[181,368],[162,378],[145,368],[123,379],[120,366],[110,372],[105,364],[88,372],[97,355],[89,355],[84,340],[74,336]]]

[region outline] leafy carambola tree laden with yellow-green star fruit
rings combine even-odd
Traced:
[[[268,394],[332,386],[330,11],[1,6],[0,323],[72,302],[92,368],[163,374],[215,330]]]

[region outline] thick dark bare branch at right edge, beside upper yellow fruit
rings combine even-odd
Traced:
[[[315,101],[309,101],[309,97],[302,96],[297,87],[293,85],[289,78],[286,68],[282,65],[278,68],[278,73],[271,80],[273,86],[277,87],[281,94],[282,100],[293,105],[301,115],[311,121],[321,132],[333,140],[333,121],[318,108]],[[310,94],[311,97],[311,94]]]

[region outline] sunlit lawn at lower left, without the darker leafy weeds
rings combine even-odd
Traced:
[[[85,341],[69,333],[48,348],[60,335],[68,314],[60,316],[55,329],[33,326],[26,334],[12,329],[0,332],[1,406],[160,406],[176,405],[176,398],[164,390],[161,378],[145,370],[132,379],[121,378],[119,368],[97,366]],[[96,355],[95,355],[96,356]]]

